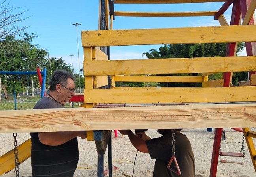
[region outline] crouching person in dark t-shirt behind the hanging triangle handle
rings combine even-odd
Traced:
[[[181,170],[181,175],[167,168],[172,156],[172,129],[158,129],[161,137],[151,139],[145,132],[137,132],[136,135],[131,130],[120,130],[122,135],[128,135],[132,145],[140,152],[149,153],[151,159],[156,159],[153,177],[194,177],[195,158],[190,141],[180,133],[182,129],[175,129],[175,158]],[[141,138],[139,138],[141,136]],[[175,163],[171,163],[171,168],[176,170]]]

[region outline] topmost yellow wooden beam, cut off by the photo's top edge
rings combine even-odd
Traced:
[[[199,2],[223,2],[225,0],[114,0],[115,4],[177,4]]]

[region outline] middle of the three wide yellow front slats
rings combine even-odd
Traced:
[[[255,71],[256,56],[84,61],[85,76]]]

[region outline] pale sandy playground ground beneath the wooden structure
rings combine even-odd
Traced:
[[[256,128],[253,128],[252,130],[256,131]],[[226,128],[225,131],[227,139],[221,141],[222,151],[240,152],[242,133],[229,128]],[[207,132],[206,129],[183,129],[182,133],[188,137],[192,144],[195,155],[196,177],[209,177],[214,132]],[[151,138],[160,136],[156,130],[147,131],[147,135]],[[112,132],[113,166],[118,168],[113,172],[113,176],[125,177],[123,174],[132,176],[136,149],[130,143],[128,136],[120,137],[121,136],[119,134],[119,137],[115,138],[114,132]],[[30,138],[28,133],[18,133],[18,144],[21,144],[28,138]],[[0,142],[0,155],[3,155],[13,148],[12,133],[0,134]],[[256,144],[255,141],[254,144]],[[80,158],[74,177],[97,177],[97,153],[95,143],[93,141],[87,141],[79,138],[79,152]],[[243,162],[243,165],[218,162],[217,176],[256,177],[246,142],[245,156],[245,158],[220,156],[219,161],[220,159],[232,160],[236,162]],[[148,153],[138,152],[135,162],[134,177],[152,177],[154,161],[155,160],[151,159]],[[20,165],[20,177],[32,175],[30,165],[30,158]],[[107,168],[106,151],[105,169]],[[15,172],[12,170],[1,177],[15,177]]]

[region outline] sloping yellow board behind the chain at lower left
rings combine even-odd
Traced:
[[[17,149],[19,151],[19,164],[21,164],[30,157],[31,139],[28,139],[21,145],[17,146]],[[0,157],[0,175],[15,168],[15,155],[13,153],[13,150],[14,149]]]

